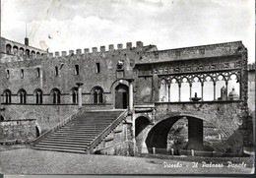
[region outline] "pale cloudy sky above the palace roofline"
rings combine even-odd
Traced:
[[[1,36],[24,43],[26,26],[30,45],[50,52],[242,40],[255,60],[254,0],[1,0]]]

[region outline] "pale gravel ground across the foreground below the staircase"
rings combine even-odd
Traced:
[[[182,157],[127,157],[114,155],[79,154],[58,151],[17,148],[0,151],[2,174],[250,174],[253,158],[230,159],[236,167],[227,167],[228,158],[189,161]],[[195,160],[196,157],[195,157]],[[203,167],[206,161],[208,166]],[[198,164],[196,163],[198,162]],[[242,164],[244,162],[244,164]],[[217,164],[224,167],[213,167]],[[239,165],[239,163],[241,163]],[[197,167],[193,167],[197,164]],[[176,166],[176,167],[173,167]],[[179,166],[179,167],[177,167]],[[182,166],[182,167],[180,167]],[[234,166],[234,165],[233,165]]]

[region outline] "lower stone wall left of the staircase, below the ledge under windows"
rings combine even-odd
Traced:
[[[77,105],[5,105],[4,112],[1,112],[4,122],[0,123],[14,133],[6,139],[17,140],[20,139],[20,135],[15,133],[20,133],[21,127],[25,127],[23,132],[28,133],[34,133],[35,127],[37,127],[39,134],[43,134],[76,112],[78,112]],[[17,125],[16,122],[21,125]],[[25,134],[21,138],[25,139],[25,136],[27,135]],[[28,137],[31,135],[29,134]]]

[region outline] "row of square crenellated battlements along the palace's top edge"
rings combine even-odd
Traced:
[[[102,45],[99,47],[99,50],[97,47],[92,47],[92,51],[90,51],[89,48],[85,48],[83,52],[82,52],[82,49],[69,50],[69,52],[61,51],[61,53],[59,51],[55,51],[55,52],[48,53],[48,56],[49,57],[60,57],[60,56],[65,57],[68,55],[88,55],[88,54],[96,54],[96,53],[111,52],[111,51],[118,51],[118,50],[134,50],[134,49],[136,50],[136,49],[142,49],[144,47],[142,41],[137,41],[136,46],[134,47],[132,45],[132,42],[126,42],[126,48],[124,48],[123,46],[124,45],[122,43],[118,43],[116,45],[116,48],[114,47],[114,44],[109,44],[108,50],[106,50],[106,46]]]

